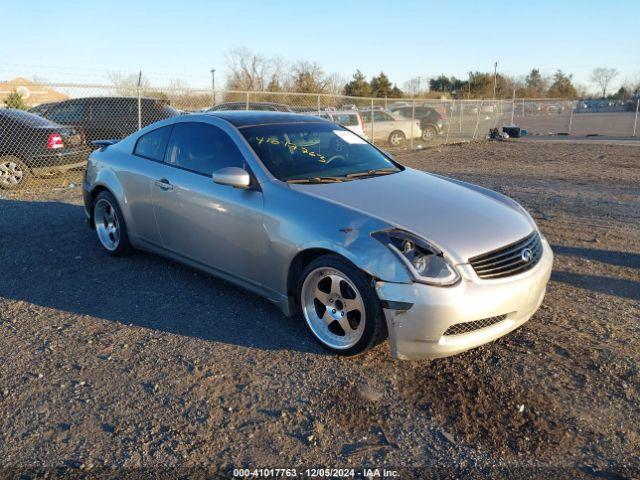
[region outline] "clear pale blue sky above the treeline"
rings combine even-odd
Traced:
[[[589,74],[613,67],[640,79],[640,1],[119,0],[7,2],[0,80],[107,82],[142,70],[154,83],[223,82],[225,53],[318,62],[349,78],[384,71],[399,86],[415,76],[469,71],[525,75],[557,69],[595,90]]]

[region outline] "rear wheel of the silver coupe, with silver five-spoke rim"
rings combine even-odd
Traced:
[[[93,225],[102,248],[114,256],[131,252],[127,225],[115,197],[103,190],[93,203]]]

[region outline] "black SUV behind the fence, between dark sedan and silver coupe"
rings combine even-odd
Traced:
[[[142,126],[179,115],[162,100],[142,98]],[[50,104],[39,115],[60,125],[82,127],[87,141],[104,138],[124,138],[138,130],[138,99],[134,97],[87,97]]]

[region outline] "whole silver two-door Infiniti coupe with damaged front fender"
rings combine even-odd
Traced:
[[[164,120],[104,142],[83,192],[108,253],[148,250],[235,282],[343,355],[387,332],[404,359],[485,344],[533,315],[551,274],[549,243],[515,201],[313,116]]]

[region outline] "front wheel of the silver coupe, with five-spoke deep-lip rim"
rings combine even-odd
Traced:
[[[369,278],[337,255],[307,265],[298,282],[300,314],[315,340],[339,355],[358,355],[386,338],[380,301]]]

